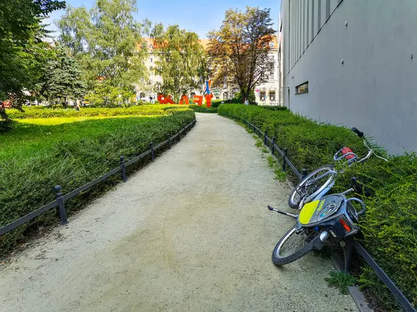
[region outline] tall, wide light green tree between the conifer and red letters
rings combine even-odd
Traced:
[[[136,11],[134,0],[97,0],[91,10],[67,8],[58,21],[59,41],[80,62],[88,88],[85,98],[90,101],[101,105],[126,101],[141,78],[147,78],[147,49],[137,49],[147,21],[134,21]]]

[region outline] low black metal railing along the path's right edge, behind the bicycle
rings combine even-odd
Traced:
[[[227,117],[230,117],[231,119],[234,119],[236,121],[240,121],[244,125],[247,126],[250,130],[254,132],[255,135],[258,135],[260,139],[263,139],[263,144],[270,148],[271,154],[276,156],[277,158],[279,155],[282,157],[282,171],[286,171],[286,166],[290,167],[293,173],[302,180],[304,177],[306,177],[307,171],[306,169],[302,169],[302,172],[297,170],[290,159],[288,159],[287,156],[287,149],[286,148],[279,148],[277,144],[275,144],[276,138],[268,137],[268,133],[262,132],[261,128],[256,127],[255,123],[250,123],[249,121],[241,118],[240,116],[235,116],[232,114],[224,114]],[[268,145],[268,142],[270,145]],[[279,155],[275,154],[275,151],[279,153]],[[386,287],[391,291],[397,302],[404,308],[404,311],[406,312],[417,312],[416,308],[414,308],[413,304],[407,300],[407,297],[400,291],[400,289],[395,285],[392,279],[389,278],[388,275],[382,270],[382,268],[378,265],[378,263],[373,259],[373,257],[369,254],[368,251],[366,251],[365,248],[359,243],[359,241],[349,240],[347,241],[347,244],[345,246],[346,250],[346,263],[345,263],[345,271],[350,272],[350,265],[351,265],[351,255],[352,255],[352,249],[357,250],[357,252],[363,257],[363,259],[368,263],[368,265],[373,268],[379,279],[386,285]]]

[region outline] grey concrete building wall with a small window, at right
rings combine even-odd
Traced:
[[[300,51],[286,18],[293,16],[289,1],[282,1],[284,105],[316,120],[356,126],[390,153],[417,150],[417,1],[344,0],[336,8],[338,1],[331,0],[327,21],[327,0],[320,2],[313,8],[316,37]],[[318,9],[325,23],[320,32]],[[309,93],[295,95],[295,86],[306,81]]]

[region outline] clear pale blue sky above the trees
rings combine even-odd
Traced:
[[[71,6],[85,6],[91,8],[95,0],[66,0]],[[278,26],[279,5],[281,0],[139,0],[138,20],[149,19],[154,23],[163,22],[164,25],[179,24],[187,31],[195,31],[200,38],[205,38],[208,31],[219,28],[224,17],[224,11],[229,8],[244,10],[245,6],[259,6],[270,8],[271,17]],[[59,19],[64,11],[56,11],[51,14],[47,23],[51,24]],[[56,29],[55,26],[49,28]]]

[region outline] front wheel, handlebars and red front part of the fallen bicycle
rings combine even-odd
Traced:
[[[345,146],[338,150],[336,154],[334,154],[333,159],[335,162],[346,159],[348,166],[352,166],[353,164],[360,164],[361,162],[365,162],[372,155],[375,155],[375,157],[384,159],[386,162],[388,162],[388,159],[377,155],[375,151],[370,148],[370,144],[366,137],[363,135],[363,132],[357,130],[357,128],[352,128],[352,131],[355,132],[358,137],[363,138],[363,144],[368,149],[368,154],[363,158],[359,158],[358,155],[353,153],[352,149]],[[340,172],[342,173],[343,171]],[[297,186],[293,189],[293,192],[288,199],[288,205],[294,209],[302,209],[304,204],[311,202],[313,199],[322,198],[327,193],[329,193],[329,191],[334,186],[337,174],[338,171],[334,170],[334,166],[331,164],[321,166],[320,168],[312,171],[309,173],[309,175],[306,175],[306,177],[304,177],[304,179],[302,179],[300,183],[298,183]]]

